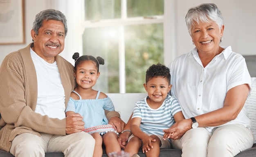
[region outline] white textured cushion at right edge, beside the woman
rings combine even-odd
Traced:
[[[256,144],[256,77],[252,77],[252,91],[249,99],[245,101],[249,119],[252,121],[252,132],[254,133],[254,144]]]

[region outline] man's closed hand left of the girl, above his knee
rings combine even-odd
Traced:
[[[84,124],[80,114],[70,114],[66,117],[66,134],[81,132],[84,129]]]

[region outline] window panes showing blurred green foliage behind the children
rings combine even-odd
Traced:
[[[102,4],[107,5],[104,8]],[[120,0],[85,0],[86,19],[120,18],[120,6]],[[163,13],[164,0],[127,0],[128,17]],[[101,74],[94,86],[94,89],[105,93],[119,93],[118,27],[87,28],[83,33],[83,55],[105,59],[105,65],[99,67]],[[164,62],[163,24],[126,25],[124,41],[126,93],[146,92],[143,86],[146,70],[152,64]]]

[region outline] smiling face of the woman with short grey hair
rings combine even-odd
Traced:
[[[216,22],[200,22],[191,28],[191,37],[198,53],[215,53],[219,49],[220,39],[223,34],[224,26],[221,30]]]

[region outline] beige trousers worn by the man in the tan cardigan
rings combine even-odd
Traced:
[[[10,153],[15,157],[45,157],[47,152],[62,152],[65,157],[92,157],[95,140],[85,132],[70,135],[50,135],[41,137],[22,133],[12,143]]]

